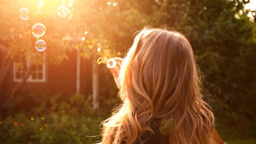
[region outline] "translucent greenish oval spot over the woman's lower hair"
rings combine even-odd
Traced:
[[[161,134],[168,134],[172,132],[176,127],[176,121],[174,119],[167,119],[161,122],[159,131]]]

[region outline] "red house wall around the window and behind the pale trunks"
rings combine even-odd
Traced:
[[[35,83],[28,82],[28,90],[36,92],[63,92],[66,95],[76,93],[76,51],[67,52],[69,59],[62,63],[54,65],[46,63],[46,82]],[[47,59],[47,58],[46,58]],[[81,57],[80,63],[80,93],[84,95],[92,94],[92,58],[85,59]],[[1,62],[1,61],[0,61]],[[98,64],[97,64],[98,65]],[[104,64],[98,65],[99,73],[99,93],[107,96],[113,89],[114,80],[111,73]],[[4,89],[12,89],[17,83],[13,81],[13,68],[11,67],[4,80]]]

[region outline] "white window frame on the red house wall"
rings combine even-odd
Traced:
[[[16,77],[16,64],[17,62],[14,61],[13,62],[13,81],[14,82],[21,82],[22,81],[22,78],[17,78]],[[27,59],[26,60],[26,66],[27,68],[29,68],[31,62]],[[38,67],[38,65],[36,66]],[[30,82],[30,83],[45,83],[46,82],[46,60],[45,60],[45,56],[43,56],[43,61],[42,61],[42,79],[33,79],[32,78],[32,73],[29,75],[29,77],[27,78],[27,82]]]

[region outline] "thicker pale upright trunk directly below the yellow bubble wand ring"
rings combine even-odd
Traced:
[[[98,66],[97,55],[93,56],[93,109],[99,109],[99,81],[98,81]]]

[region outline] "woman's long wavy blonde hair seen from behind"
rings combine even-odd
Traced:
[[[102,144],[142,143],[144,132],[157,132],[153,121],[167,119],[176,126],[160,134],[165,143],[214,143],[214,116],[202,100],[193,49],[185,36],[144,28],[124,58],[119,78],[123,104],[102,122]]]

